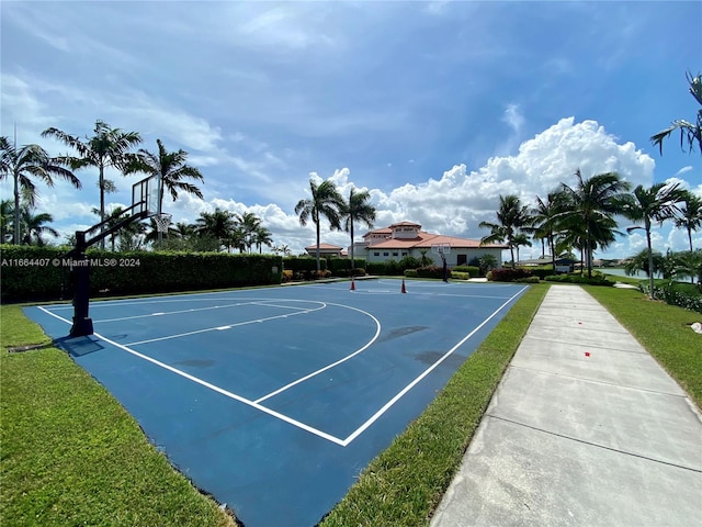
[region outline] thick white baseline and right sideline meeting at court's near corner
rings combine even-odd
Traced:
[[[308,431],[313,435],[316,435],[317,437],[320,437],[322,439],[326,439],[330,442],[333,442],[336,445],[339,445],[341,447],[347,447],[349,446],[353,440],[355,440],[361,434],[363,434],[367,428],[370,428],[377,419],[380,419],[383,414],[385,414],[390,407],[393,407],[395,405],[395,403],[397,403],[401,397],[404,397],[412,388],[415,388],[419,382],[421,382],[427,375],[429,375],[429,373],[431,373],[434,369],[437,369],[445,359],[448,359],[451,355],[453,355],[453,352],[458,349],[461,346],[463,346],[473,335],[475,335],[478,330],[480,330],[489,321],[491,321],[500,311],[502,311],[505,309],[505,306],[507,306],[510,302],[512,302],[517,296],[519,296],[521,293],[523,293],[526,290],[526,285],[524,285],[522,289],[520,289],[517,293],[514,293],[512,296],[510,296],[508,300],[506,300],[497,310],[495,310],[487,318],[485,318],[478,326],[476,326],[471,333],[468,333],[465,337],[463,337],[456,345],[454,345],[449,351],[446,351],[441,358],[439,358],[433,365],[431,365],[429,368],[427,368],[422,373],[420,373],[418,377],[416,377],[409,384],[407,384],[403,390],[400,390],[398,393],[396,393],[389,401],[387,401],[378,411],[376,411],[370,418],[367,418],[361,426],[359,426],[355,430],[353,430],[349,436],[347,436],[344,439],[338,438],[331,434],[328,434],[326,431],[319,430],[318,428],[315,428],[313,426],[309,426],[301,421],[294,419],[292,417],[288,417],[285,414],[281,414],[280,412],[276,412],[274,410],[271,410],[267,406],[263,406],[262,404],[260,404],[257,401],[251,401],[249,399],[246,399],[241,395],[237,395],[236,393],[231,393],[227,390],[224,390],[223,388],[217,386],[216,384],[212,384],[207,381],[204,381],[202,379],[199,379],[194,375],[191,375],[190,373],[186,373],[182,370],[179,370],[178,368],[173,368],[170,365],[167,365],[165,362],[161,362],[158,359],[154,359],[147,355],[140,354],[138,351],[135,351],[131,348],[128,348],[125,345],[115,343],[114,340],[106,338],[104,336],[102,336],[99,333],[94,333],[94,335],[100,338],[101,340],[115,346],[118,349],[122,349],[128,354],[132,354],[135,357],[138,357],[143,360],[146,360],[148,362],[151,362],[155,366],[158,366],[160,368],[163,368],[172,373],[176,373],[184,379],[188,379],[192,382],[195,382],[204,388],[207,388],[214,392],[217,392],[222,395],[225,395],[234,401],[238,401],[240,403],[244,403],[248,406],[251,406],[254,410],[258,410],[260,412],[263,412],[272,417],[279,418],[290,425],[293,425],[299,429],[303,429],[305,431]],[[335,304],[337,305],[337,304]],[[71,324],[70,321],[55,314],[52,313],[50,311],[48,311],[47,309],[45,309],[44,306],[37,305],[37,309],[39,309],[41,311],[43,311],[44,313],[54,316],[56,318],[58,318],[61,322],[65,322],[66,324]],[[351,306],[347,306],[356,311],[361,311],[358,310],[355,307],[351,307]],[[370,315],[370,313],[369,313]],[[373,315],[370,315],[373,317]],[[375,319],[375,317],[373,317]],[[380,324],[380,323],[378,323]],[[366,348],[367,349],[367,346]],[[354,352],[353,355],[358,355],[358,351]],[[324,370],[329,369],[328,367],[325,368]],[[322,370],[322,371],[324,371]],[[321,373],[321,371],[319,371],[318,373]],[[455,372],[454,372],[455,373]],[[312,375],[314,377],[314,375]],[[302,381],[301,381],[302,382]],[[297,382],[295,382],[295,384],[297,384]],[[290,388],[290,386],[288,386]],[[282,390],[281,390],[282,391]],[[264,399],[268,399],[269,396],[272,395],[267,395]]]

